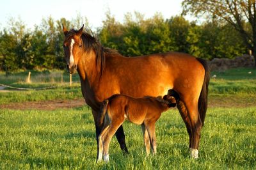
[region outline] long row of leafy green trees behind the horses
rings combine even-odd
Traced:
[[[31,30],[22,20],[11,19],[0,32],[0,70],[65,68],[62,23],[75,29],[89,25],[81,15],[72,20],[48,17]],[[234,58],[248,52],[237,31],[228,24],[196,24],[181,16],[164,19],[159,13],[150,19],[140,13],[127,13],[122,23],[107,13],[95,34],[104,47],[116,49],[124,56],[172,50],[212,59]]]

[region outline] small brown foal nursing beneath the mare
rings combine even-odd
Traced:
[[[161,113],[170,107],[176,106],[176,100],[170,95],[164,98],[132,98],[125,95],[113,95],[103,101],[102,112],[99,121],[103,121],[104,126],[99,135],[99,153],[97,161],[102,160],[102,155],[106,162],[109,161],[109,143],[116,130],[125,120],[136,125],[141,125],[147,155],[150,153],[150,146],[153,154],[156,154],[156,133],[155,123],[160,118]]]

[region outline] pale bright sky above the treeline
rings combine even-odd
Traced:
[[[40,25],[51,16],[55,20],[75,19],[78,14],[88,19],[92,29],[102,26],[108,10],[122,22],[127,12],[140,12],[145,18],[162,13],[165,19],[180,15],[182,0],[1,0],[0,28],[8,26],[11,17],[21,19],[26,27]]]

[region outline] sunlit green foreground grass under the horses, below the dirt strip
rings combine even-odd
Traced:
[[[209,109],[200,158],[189,158],[188,135],[177,109],[156,125],[157,155],[146,157],[139,126],[125,123],[130,154],[115,138],[110,163],[96,164],[92,114],[87,107],[0,114],[0,169],[255,169],[256,107]]]

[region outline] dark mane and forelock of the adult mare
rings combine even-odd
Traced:
[[[67,36],[74,35],[77,32],[77,30],[71,29]],[[89,28],[85,28],[81,38],[83,40],[83,49],[85,52],[90,52],[91,50],[95,52],[97,71],[100,75],[102,75],[102,72],[104,71],[107,56],[122,56],[115,49],[103,47],[97,36]]]

